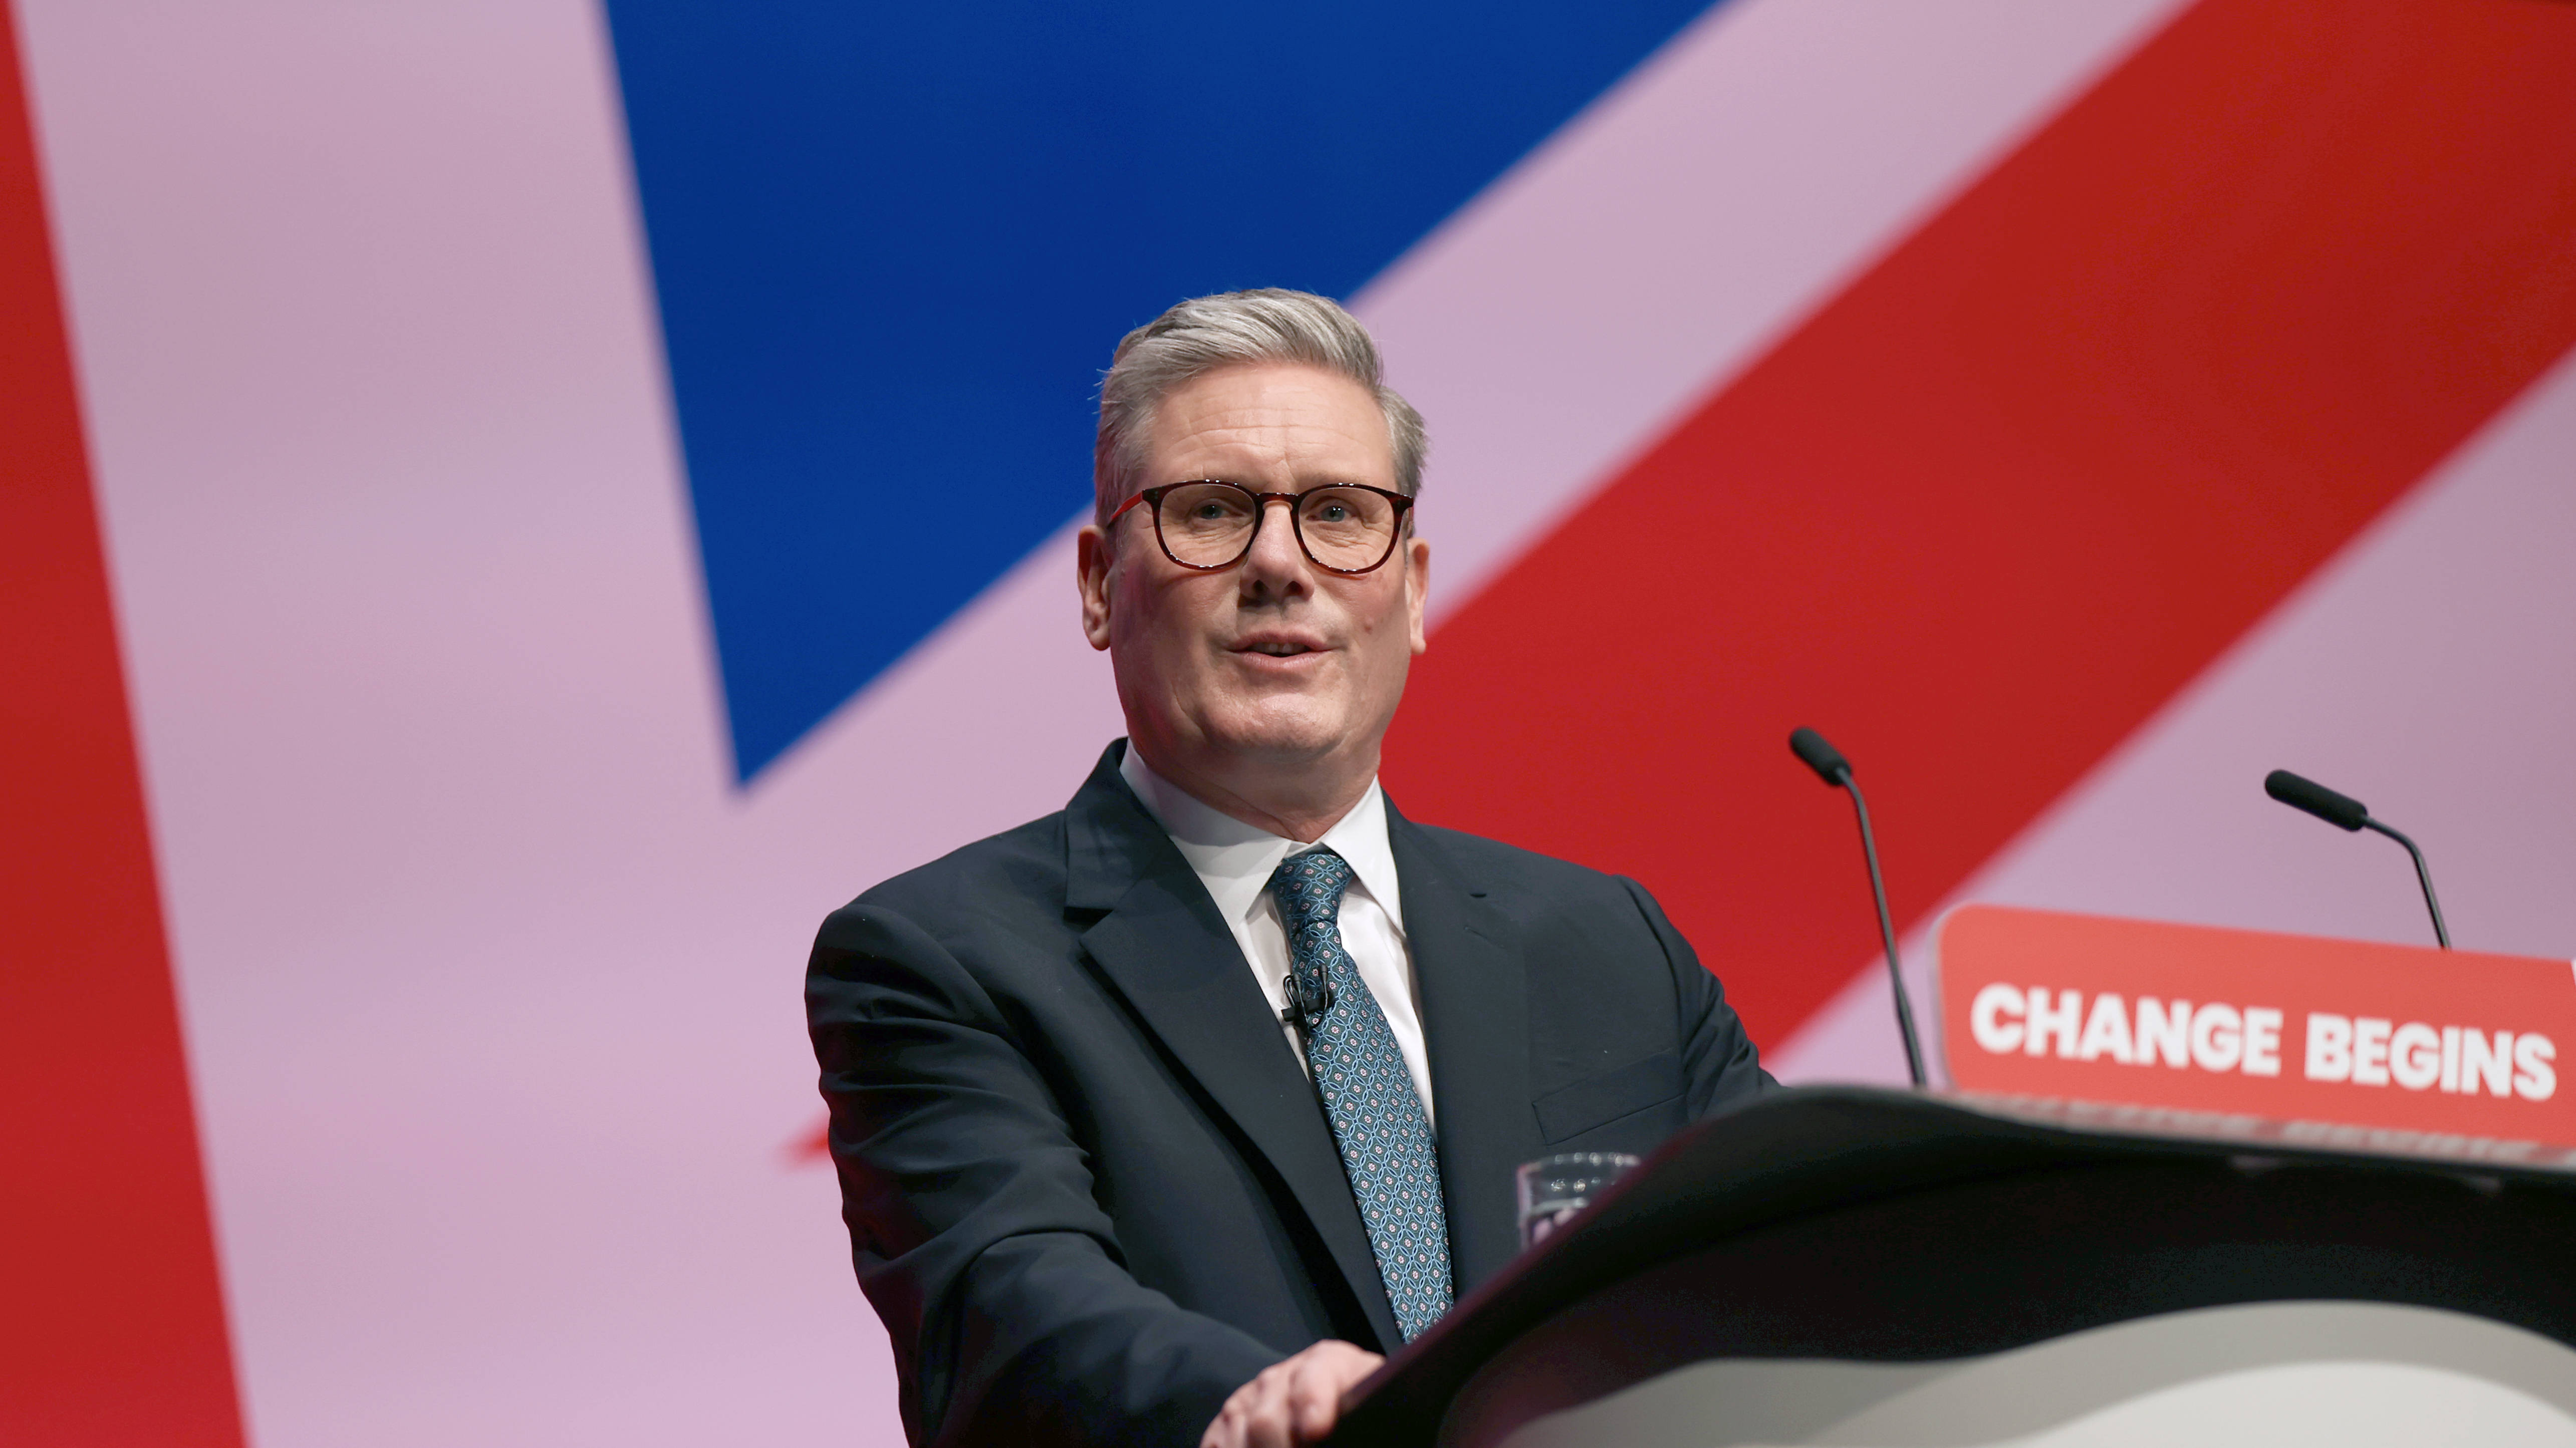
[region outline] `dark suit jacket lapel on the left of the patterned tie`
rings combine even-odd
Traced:
[[[1285,1183],[1378,1342],[1401,1342],[1324,1108],[1208,889],[1118,778],[1121,750],[1066,809],[1066,910],[1105,910],[1082,948]]]

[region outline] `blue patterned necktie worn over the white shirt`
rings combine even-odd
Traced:
[[[1306,1018],[1306,1064],[1324,1095],[1342,1170],[1360,1198],[1368,1250],[1412,1342],[1450,1306],[1448,1208],[1440,1203],[1440,1157],[1432,1123],[1404,1067],[1396,1033],[1378,997],[1342,948],[1342,891],[1350,861],[1332,850],[1288,855],[1270,873],[1270,894],[1288,925],[1291,1000],[1327,1002]]]

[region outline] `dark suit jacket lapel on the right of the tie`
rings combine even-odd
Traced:
[[[1404,940],[1422,992],[1422,1036],[1440,1116],[1450,1268],[1466,1296],[1520,1252],[1512,1170],[1546,1154],[1530,1113],[1530,995],[1515,951],[1486,935],[1494,907],[1437,840],[1386,806],[1404,889]]]

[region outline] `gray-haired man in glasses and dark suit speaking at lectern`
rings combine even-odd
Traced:
[[[1520,1162],[1770,1085],[1636,881],[1378,791],[1422,451],[1321,296],[1131,332],[1079,546],[1128,739],[824,920],[806,1013],[914,1443],[1321,1435],[1510,1262]]]

